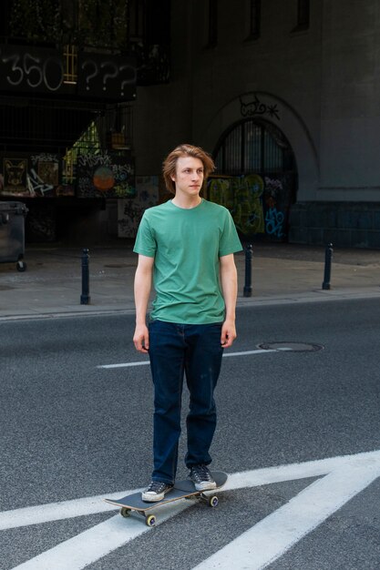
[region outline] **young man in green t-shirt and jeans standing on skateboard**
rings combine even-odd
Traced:
[[[241,250],[230,212],[200,197],[214,169],[201,148],[180,145],[163,163],[174,198],[147,209],[134,251],[138,351],[149,352],[154,383],[154,469],[142,494],[159,501],[175,482],[183,378],[190,392],[185,463],[198,490],[216,485],[207,465],[216,426],[213,392],[223,349],[236,338],[237,275],[233,254]],[[152,279],[156,298],[146,316]]]

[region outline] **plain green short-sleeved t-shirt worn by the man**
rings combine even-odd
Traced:
[[[219,258],[241,251],[228,209],[202,199],[192,209],[171,200],[145,211],[134,251],[154,257],[151,319],[183,324],[224,320]]]

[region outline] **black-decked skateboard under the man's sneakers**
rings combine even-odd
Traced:
[[[226,483],[228,475],[221,471],[212,471],[211,475],[216,483],[216,488],[208,489],[207,491],[197,491],[194,483],[192,483],[190,479],[183,479],[177,481],[171,491],[169,491],[161,501],[152,503],[143,501],[141,499],[141,493],[128,494],[126,497],[121,497],[120,499],[105,499],[105,501],[106,503],[119,506],[121,516],[128,517],[131,513],[136,513],[145,518],[145,524],[154,526],[157,522],[157,518],[155,514],[150,514],[150,511],[161,504],[173,503],[180,499],[200,499],[211,507],[217,506],[219,499],[214,492]]]

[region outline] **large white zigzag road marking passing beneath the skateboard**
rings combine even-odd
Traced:
[[[230,545],[211,555],[198,570],[230,568],[259,570],[281,556],[305,534],[360,493],[380,476],[380,451],[357,453],[305,463],[291,463],[232,473],[222,491],[255,487],[263,484],[293,481],[307,477],[323,477],[264,518]],[[118,498],[123,493],[109,495]],[[128,494],[125,492],[124,494]],[[98,503],[98,504],[97,504]],[[178,502],[159,507],[159,523],[179,514],[191,503]],[[0,513],[0,529],[42,524],[84,514],[103,513],[114,507],[99,496],[77,501],[45,504]],[[119,546],[127,544],[150,529],[142,520],[119,515],[78,534],[41,555],[17,566],[23,570],[82,570]]]

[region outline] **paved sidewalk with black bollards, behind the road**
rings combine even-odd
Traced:
[[[27,246],[27,270],[0,264],[0,320],[77,313],[133,312],[137,256],[133,243],[118,239],[89,248],[90,303],[80,304],[80,247]],[[380,298],[380,250],[336,249],[331,290],[323,290],[324,248],[283,243],[253,243],[252,297],[243,297],[245,256],[235,256],[238,306],[308,300]]]

